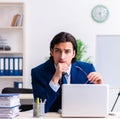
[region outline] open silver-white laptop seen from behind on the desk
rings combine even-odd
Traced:
[[[107,84],[63,84],[62,117],[108,116]]]

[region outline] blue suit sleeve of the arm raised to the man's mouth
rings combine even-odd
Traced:
[[[56,98],[60,95],[59,90],[57,92],[49,86],[49,82],[43,76],[43,73],[38,73],[35,69],[31,70],[32,76],[32,88],[34,100],[39,97],[40,99],[46,99],[45,112],[48,112],[53,105]]]

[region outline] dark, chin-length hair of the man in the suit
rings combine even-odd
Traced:
[[[54,46],[56,44],[59,44],[61,42],[71,42],[73,45],[73,50],[75,50],[75,57],[72,59],[72,63],[76,61],[76,54],[77,54],[77,43],[76,39],[73,35],[67,32],[60,32],[57,35],[54,36],[50,43],[50,51],[51,49],[54,49]],[[53,60],[53,56],[50,54],[50,60]]]

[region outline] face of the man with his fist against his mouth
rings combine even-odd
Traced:
[[[56,65],[58,63],[66,63],[69,66],[75,56],[75,50],[73,50],[71,42],[63,42],[56,44],[54,48],[51,49],[51,55]]]

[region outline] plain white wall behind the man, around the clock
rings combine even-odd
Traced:
[[[6,0],[0,0],[0,2]],[[72,33],[88,44],[88,55],[96,64],[96,35],[120,34],[120,0],[7,0],[26,3],[26,78],[31,87],[31,68],[49,56],[49,43],[61,31]],[[97,4],[105,5],[110,16],[104,23],[91,18]]]

